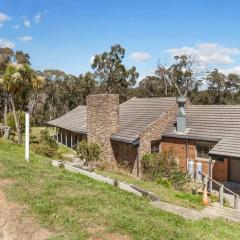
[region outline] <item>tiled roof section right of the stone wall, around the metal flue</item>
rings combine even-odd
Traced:
[[[188,105],[185,133],[177,133],[175,122],[163,137],[217,142],[214,155],[240,157],[240,105]]]

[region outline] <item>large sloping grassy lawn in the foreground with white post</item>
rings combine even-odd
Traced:
[[[29,206],[26,214],[55,234],[51,239],[88,239],[89,228],[126,234],[130,239],[240,239],[240,225],[223,220],[185,220],[150,206],[113,186],[53,168],[49,159],[0,140],[0,178],[13,179],[5,192]]]

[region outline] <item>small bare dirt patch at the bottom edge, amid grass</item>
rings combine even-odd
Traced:
[[[87,231],[92,235],[89,240],[130,240],[131,238],[127,235],[120,233],[109,233],[105,227],[96,226],[88,227]]]

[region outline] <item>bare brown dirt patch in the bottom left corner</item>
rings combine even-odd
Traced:
[[[2,187],[11,180],[0,180],[0,240],[45,240],[51,233],[24,216],[24,208],[7,201]]]

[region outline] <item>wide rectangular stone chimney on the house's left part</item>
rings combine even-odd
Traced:
[[[110,137],[119,129],[119,96],[117,94],[88,95],[87,99],[88,141],[101,147],[105,161],[112,161],[114,154]]]

